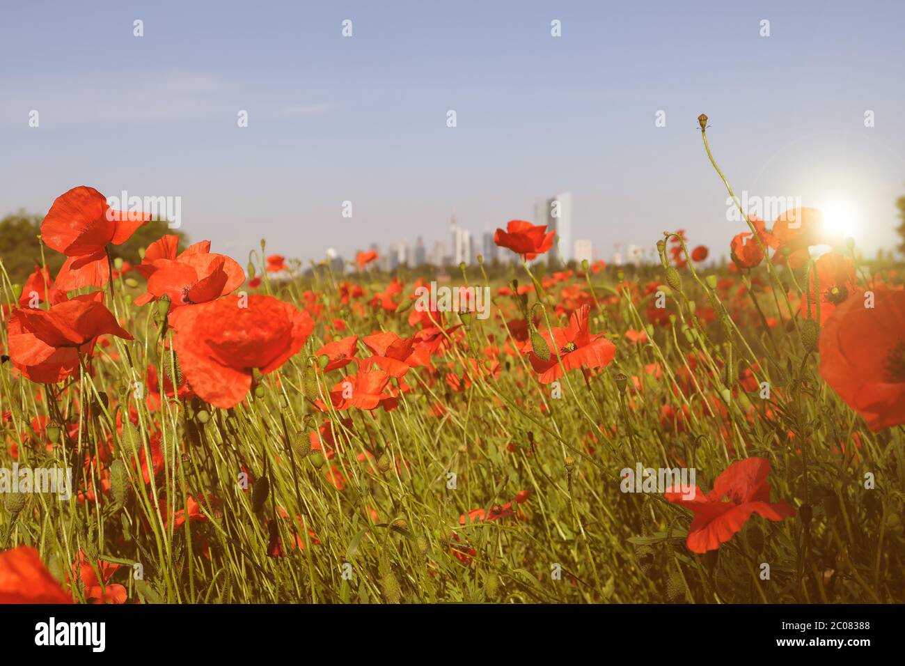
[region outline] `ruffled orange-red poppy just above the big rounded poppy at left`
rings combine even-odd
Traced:
[[[175,246],[167,242],[154,249],[154,256],[157,256],[164,252],[169,254]],[[135,299],[136,305],[156,301],[162,296],[169,298],[171,307],[205,303],[230,294],[245,281],[242,266],[228,256],[210,253],[210,241],[190,246],[175,258],[160,256],[148,262],[146,252],[140,269],[148,278],[148,292]]]

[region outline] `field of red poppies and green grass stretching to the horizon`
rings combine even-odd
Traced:
[[[149,215],[47,203],[0,271],[0,603],[905,599],[901,266],[819,210],[623,266],[500,220],[453,308],[374,252],[130,264]]]

